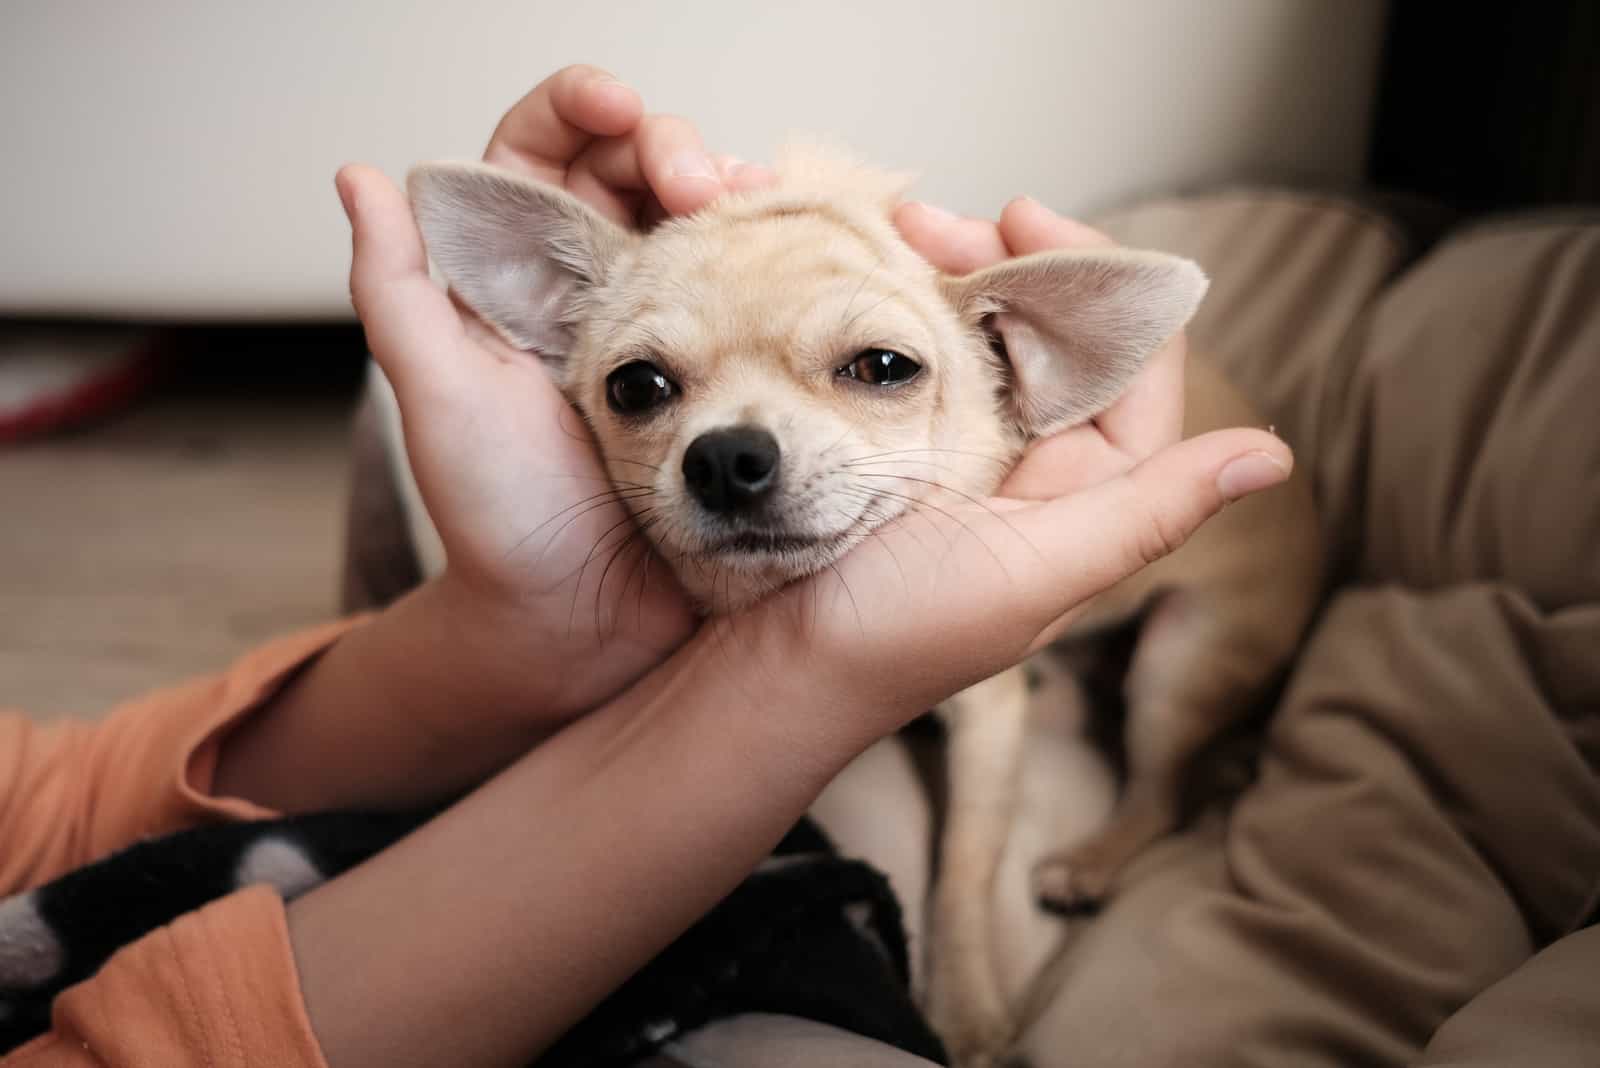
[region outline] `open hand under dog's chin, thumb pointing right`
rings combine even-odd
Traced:
[[[1282,440],[1253,428],[1158,448],[1098,480],[1046,459],[1019,468],[1027,497],[1013,478],[986,500],[914,505],[834,568],[712,620],[696,643],[736,651],[763,707],[805,707],[848,758],[1037,652],[1080,604],[1293,465]]]

